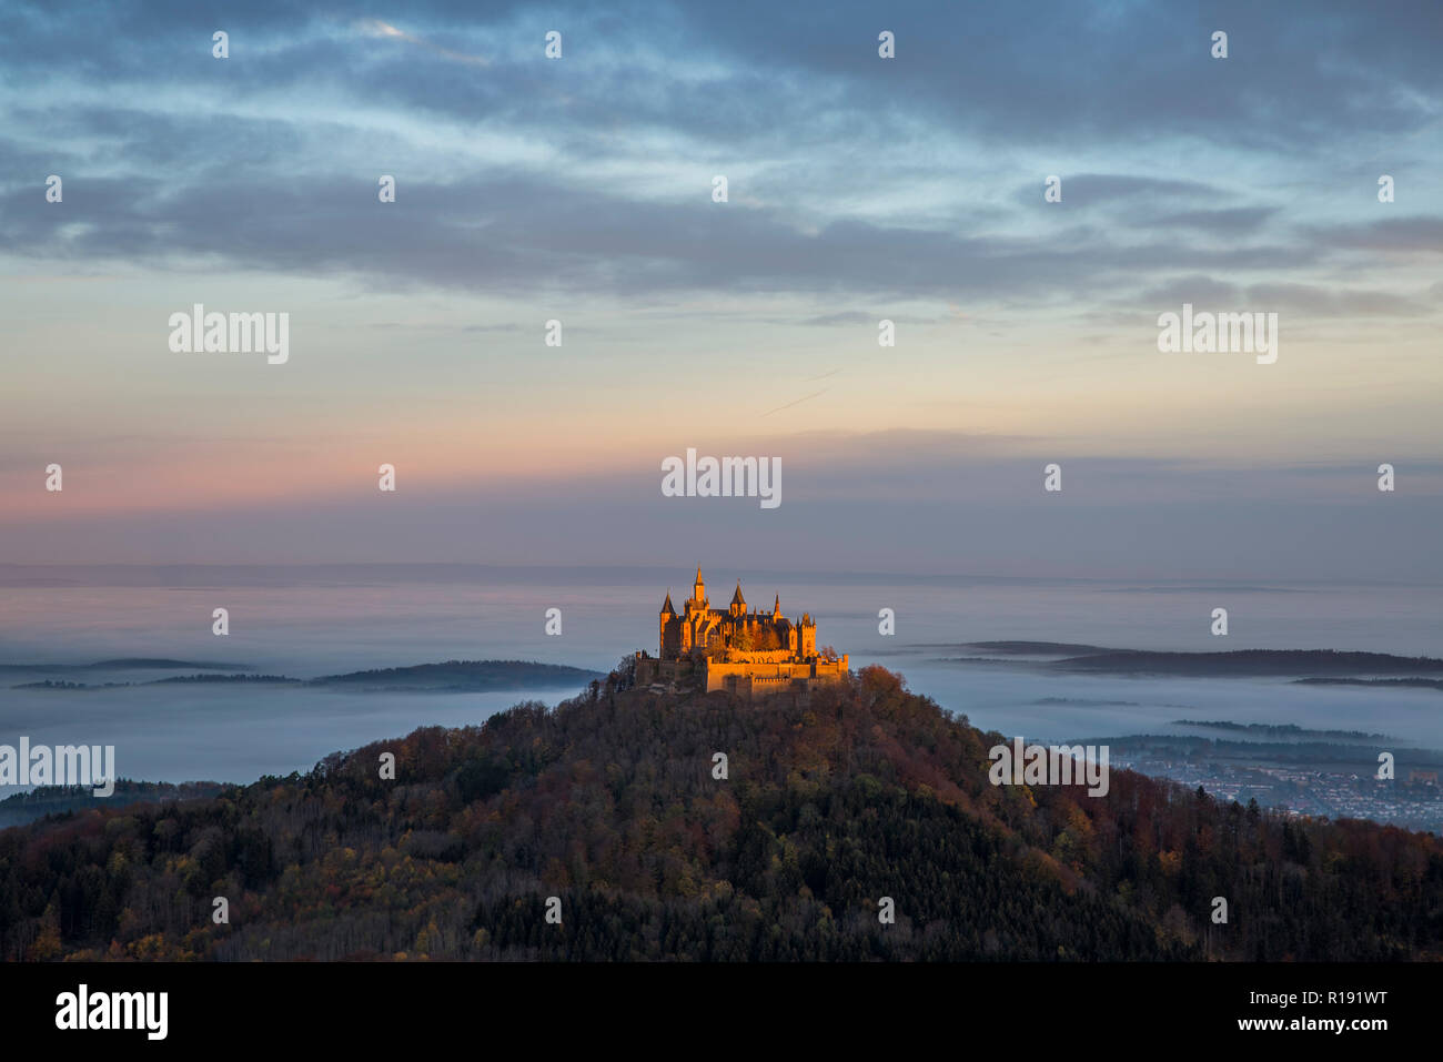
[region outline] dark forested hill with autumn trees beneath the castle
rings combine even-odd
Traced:
[[[625,685],[625,681],[620,683]],[[212,799],[0,833],[6,958],[1443,957],[1443,843],[1128,772],[994,788],[1001,736],[882,668],[746,703],[618,691]],[[385,752],[395,781],[380,776]],[[726,779],[713,776],[726,753]],[[229,923],[214,925],[212,900]],[[560,925],[547,898],[560,899]],[[1227,925],[1211,922],[1228,900]],[[877,910],[892,898],[896,922]]]

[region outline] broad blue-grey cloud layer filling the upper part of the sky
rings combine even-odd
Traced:
[[[1306,19],[1241,0],[1206,17],[1190,3],[934,6],[893,14],[895,61],[876,56],[873,7],[851,0],[825,20],[749,0],[544,16],[420,0],[404,22],[359,23],[263,0],[231,23],[224,62],[188,10],[0,14],[0,104],[16,118],[0,251],[361,287],[1076,310],[1159,276],[1316,284],[1336,250],[1443,248],[1443,218],[1322,222],[1297,183],[1253,176],[1326,185],[1310,153],[1427,130],[1420,101],[1443,85],[1427,3],[1390,20],[1335,0]],[[1208,56],[1214,20],[1232,27],[1225,62]],[[569,42],[557,62],[543,58],[553,25]],[[967,183],[948,190],[954,166]],[[63,211],[36,195],[35,173],[56,167]],[[384,209],[381,172],[401,188]],[[707,198],[714,172],[734,180],[726,206]],[[1052,172],[1056,206],[1040,195]],[[1289,198],[1247,202],[1240,186]]]

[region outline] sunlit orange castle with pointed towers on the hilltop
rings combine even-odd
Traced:
[[[817,623],[811,615],[792,622],[782,615],[781,594],[772,610],[747,612],[742,583],[732,603],[713,609],[697,566],[691,597],[678,613],[671,592],[661,606],[657,657],[636,654],[636,684],[696,683],[707,693],[726,690],[743,695],[807,690],[847,677],[847,657],[817,651]]]

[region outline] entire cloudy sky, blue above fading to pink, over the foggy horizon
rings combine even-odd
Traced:
[[[0,563],[1443,582],[1440,53],[1436,0],[12,0]],[[1277,361],[1160,352],[1183,303]],[[688,447],[782,504],[662,496]]]

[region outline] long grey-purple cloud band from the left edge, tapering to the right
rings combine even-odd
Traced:
[[[981,235],[838,219],[802,228],[782,209],[619,198],[540,180],[410,183],[380,205],[368,177],[91,180],[53,209],[33,189],[0,198],[0,251],[156,268],[196,261],[273,274],[352,274],[385,287],[794,291],[886,297],[1091,299],[1137,273],[1296,268],[1306,247],[1117,242],[1095,228]],[[76,189],[78,192],[78,189]],[[815,319],[814,319],[815,320]],[[847,317],[837,317],[843,323]]]

